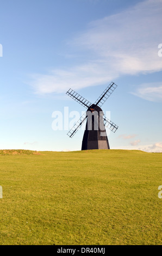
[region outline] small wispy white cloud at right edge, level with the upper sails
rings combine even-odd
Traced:
[[[132,94],[149,101],[162,101],[162,82],[141,84]]]

